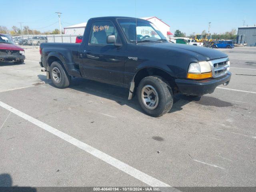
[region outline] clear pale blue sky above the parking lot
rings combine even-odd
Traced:
[[[256,24],[256,0],[0,0],[0,26],[11,30],[23,26],[41,32],[87,22],[99,16],[156,16],[187,35],[193,32],[213,34]]]

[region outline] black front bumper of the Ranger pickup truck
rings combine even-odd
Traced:
[[[186,95],[204,95],[214,92],[215,88],[221,84],[228,84],[231,78],[231,73],[220,78],[210,78],[204,80],[188,80],[188,79],[176,79],[175,83],[178,86],[179,91]]]

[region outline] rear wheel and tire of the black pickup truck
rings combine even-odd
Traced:
[[[62,64],[58,61],[52,62],[50,66],[50,77],[54,86],[60,89],[67,88],[71,82],[71,76],[67,74]]]

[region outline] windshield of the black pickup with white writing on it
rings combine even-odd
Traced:
[[[118,19],[126,38],[130,42],[142,42],[144,40],[166,40],[164,35],[152,24],[146,20],[136,19]],[[137,38],[136,38],[137,37]]]

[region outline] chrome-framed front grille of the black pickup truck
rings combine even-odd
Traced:
[[[230,61],[229,59],[226,58],[221,58],[221,59],[215,59],[215,60],[210,60],[210,65],[212,67],[212,77],[213,78],[218,78],[221,76],[224,76],[230,67]]]

